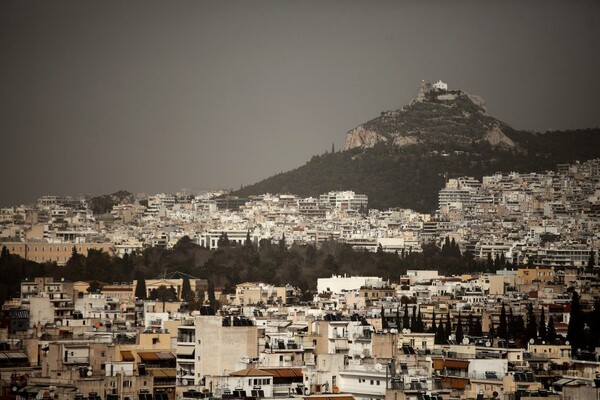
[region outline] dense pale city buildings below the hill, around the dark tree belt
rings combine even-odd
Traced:
[[[432,215],[369,209],[352,191],[122,195],[105,213],[90,197],[46,195],[3,208],[0,263],[54,271],[25,276],[3,304],[5,394],[595,398],[599,182],[600,160],[448,178]],[[478,268],[450,274],[431,261],[445,258],[423,258],[386,277],[322,269],[305,288],[294,276],[215,286],[174,267],[127,282],[56,272],[86,254],[126,262],[182,243],[214,253],[331,242],[357,256],[433,251]]]

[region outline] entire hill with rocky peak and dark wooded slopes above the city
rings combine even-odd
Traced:
[[[432,212],[445,179],[496,172],[535,172],[600,157],[600,129],[534,133],[488,115],[481,97],[422,83],[417,96],[346,134],[346,149],[311,158],[232,195],[317,196],[354,190],[371,208]]]

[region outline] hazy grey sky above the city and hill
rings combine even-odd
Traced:
[[[599,4],[0,0],[0,205],[237,189],[422,79],[515,128],[600,126]]]

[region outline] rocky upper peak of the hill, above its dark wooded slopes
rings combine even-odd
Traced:
[[[481,97],[422,83],[417,97],[408,105],[382,112],[349,131],[346,150],[370,148],[380,142],[400,147],[487,142],[493,147],[511,149],[517,145],[506,135],[510,129],[487,114]]]

